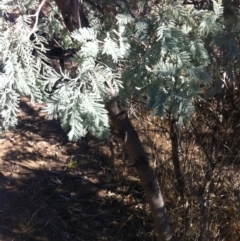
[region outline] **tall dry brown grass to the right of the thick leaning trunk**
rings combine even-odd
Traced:
[[[238,103],[239,93],[235,94]],[[142,119],[135,118],[179,240],[240,240],[239,113],[227,103],[226,100],[224,122],[217,129],[209,128],[209,123],[217,123],[215,100],[202,103],[192,123],[181,129],[179,156],[186,185],[184,200],[176,188],[168,122],[150,119],[146,113]],[[209,192],[203,193],[212,146],[215,169]]]

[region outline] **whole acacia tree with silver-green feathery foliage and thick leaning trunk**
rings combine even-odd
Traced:
[[[44,4],[49,13],[39,18]],[[210,84],[202,36],[216,26],[221,4],[213,1],[210,11],[200,12],[180,0],[2,0],[0,10],[3,130],[16,126],[21,96],[44,103],[43,111],[60,119],[71,141],[87,132],[107,138],[110,118],[146,192],[160,240],[174,240],[159,185],[120,102],[147,98],[153,115],[167,113],[174,125],[187,122],[193,100]],[[74,52],[75,71],[51,67],[47,46],[53,40],[64,53]]]

